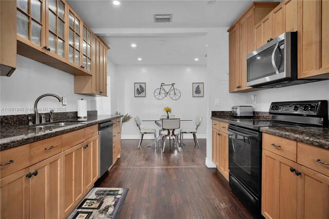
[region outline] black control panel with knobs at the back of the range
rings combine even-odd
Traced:
[[[323,108],[327,108],[327,101],[294,101],[272,102],[269,108],[270,114],[293,114],[321,116]],[[325,110],[325,109],[324,109]]]

